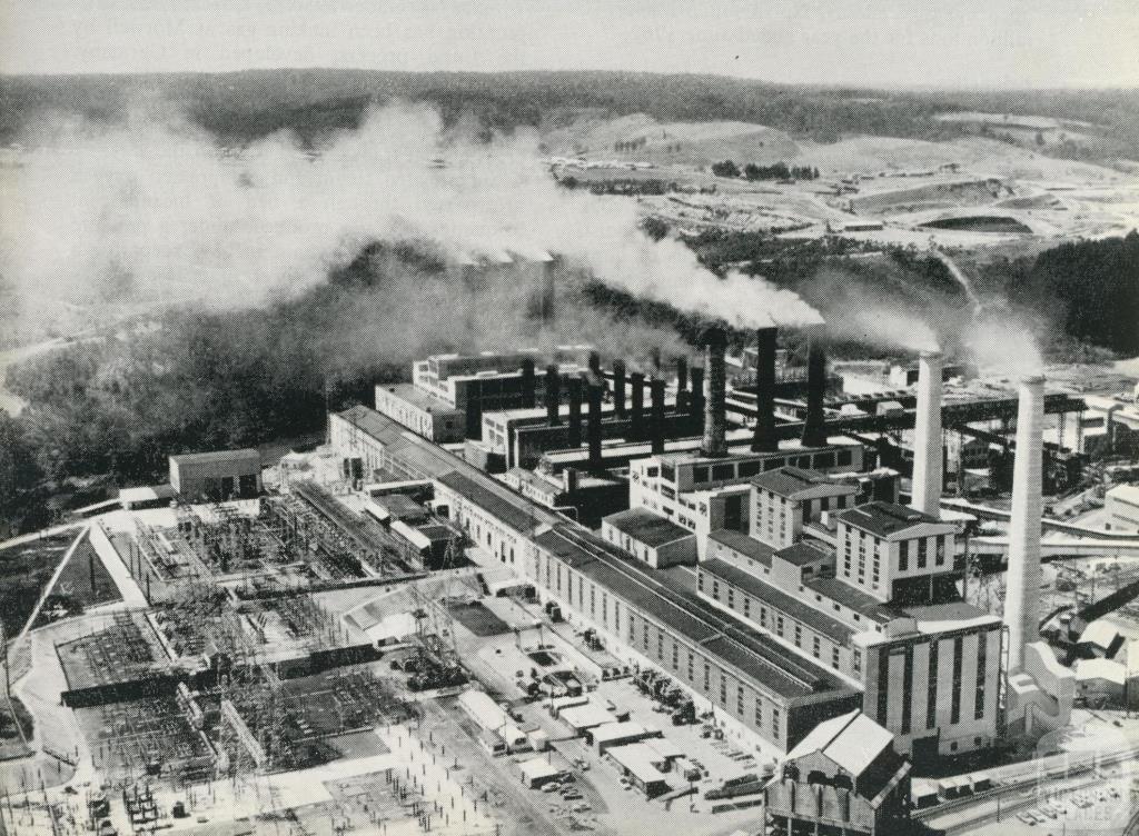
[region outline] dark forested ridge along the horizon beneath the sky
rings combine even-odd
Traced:
[[[820,88],[713,75],[621,72],[395,73],[273,69],[228,74],[18,76],[0,79],[0,141],[11,141],[50,112],[115,118],[140,103],[183,109],[226,142],[288,128],[306,140],[355,126],[372,103],[392,98],[435,104],[486,129],[509,130],[597,108],[661,121],[736,120],[797,137],[843,134],[943,139],[966,129],[939,113],[983,109],[1046,114],[1095,123],[1114,151],[1139,149],[1137,91],[886,91]],[[1137,153],[1139,154],[1139,153]]]

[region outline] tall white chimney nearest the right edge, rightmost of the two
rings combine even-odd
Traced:
[[[1008,625],[1008,672],[1024,665],[1024,646],[1040,639],[1040,515],[1043,510],[1044,378],[1021,382],[1016,411],[1016,459],[1013,462],[1013,519],[1008,530],[1008,580],[1005,623]]]

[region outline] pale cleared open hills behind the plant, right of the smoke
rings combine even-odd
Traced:
[[[560,161],[558,177],[595,190],[622,183],[618,191],[646,191],[638,198],[641,213],[687,233],[839,232],[879,245],[968,249],[1139,227],[1133,173],[978,136],[925,141],[852,134],[823,144],[738,122],[661,124],[644,115],[590,114],[550,129],[543,144]],[[712,175],[711,163],[722,159],[740,167],[781,161],[818,169],[821,177],[751,182]],[[876,228],[865,229],[868,222]]]

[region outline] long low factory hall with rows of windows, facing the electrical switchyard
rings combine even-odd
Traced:
[[[329,416],[337,454],[435,484],[435,510],[540,585],[563,612],[656,665],[718,713],[780,751],[822,720],[859,708],[845,677],[747,629],[695,590],[653,572],[588,528],[515,493],[464,459],[367,407]]]

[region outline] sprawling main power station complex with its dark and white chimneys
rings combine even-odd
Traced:
[[[1038,543],[1040,519],[1039,507],[1032,513],[1039,480],[1025,487],[1042,448],[1034,417],[1072,404],[1048,402],[1042,386],[1027,382],[1016,400],[944,407],[942,360],[929,353],[919,360],[912,409],[835,417],[825,405],[822,343],[812,335],[805,404],[796,421],[780,423],[769,385],[775,335],[763,329],[755,407],[745,416],[752,426],[729,429],[727,412],[740,408],[729,405],[723,336],[712,330],[704,342],[690,390],[689,369],[678,369],[671,411],[664,380],[638,379],[630,403],[624,367],[615,364],[611,392],[590,355],[587,374],[570,380],[567,415],[559,370],[548,370],[559,383],[546,390],[544,419],[534,408],[483,421],[491,432],[477,443],[502,444],[495,454],[515,461],[501,480],[487,472],[487,457],[465,460],[364,408],[331,416],[330,437],[345,460],[431,480],[434,510],[473,548],[533,582],[543,601],[596,631],[620,658],[674,677],[718,720],[778,751],[855,710],[892,735],[899,752],[923,761],[992,746],[1010,716],[1022,728],[1062,724],[1074,683],[1027,629],[1034,613],[1016,615],[1027,590],[1010,573],[1009,626],[961,599],[960,532],[941,514],[942,435],[943,413],[964,420],[1018,404],[1017,449],[1029,452],[1017,454],[1010,566],[1027,577],[1031,521]],[[878,426],[915,429],[911,506],[896,502],[896,473],[868,473],[874,453],[846,429],[857,436]],[[616,443],[605,444],[609,432]],[[526,446],[525,437],[542,440]],[[470,448],[468,437],[465,452]],[[523,461],[539,451],[543,473],[527,475]],[[616,462],[629,467],[630,510],[599,521],[598,535],[563,513],[558,494],[579,466],[607,480]],[[695,579],[669,568],[694,559]],[[1006,682],[1011,715],[1001,711]]]

